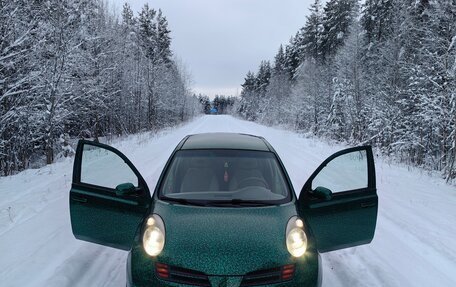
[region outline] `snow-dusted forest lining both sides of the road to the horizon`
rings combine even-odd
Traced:
[[[111,11],[0,0],[0,175],[71,155],[79,138],[156,131],[215,107],[456,179],[456,0],[314,0],[240,98],[215,99],[192,94],[161,10]]]

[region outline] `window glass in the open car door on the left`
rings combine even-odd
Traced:
[[[125,161],[110,150],[84,144],[81,182],[115,189],[122,183],[138,187],[138,177]]]

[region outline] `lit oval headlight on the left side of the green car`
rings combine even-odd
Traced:
[[[165,247],[165,224],[157,214],[153,214],[146,220],[143,247],[150,256],[157,256]]]

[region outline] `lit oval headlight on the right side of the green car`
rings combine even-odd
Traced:
[[[306,253],[307,235],[304,231],[304,222],[297,216],[290,218],[287,224],[287,249],[294,257],[301,257]]]

